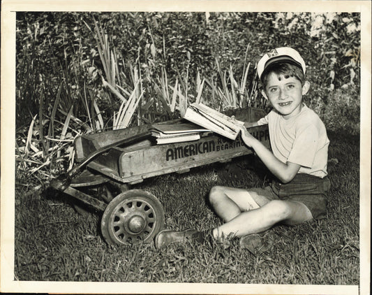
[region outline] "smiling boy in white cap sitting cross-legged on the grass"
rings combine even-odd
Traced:
[[[158,249],[174,242],[202,241],[209,235],[217,241],[233,235],[241,238],[241,247],[254,253],[255,246],[262,245],[257,233],[274,224],[325,217],[329,140],[318,115],[302,101],[310,87],[304,59],[292,48],[276,48],[260,59],[257,73],[272,110],[245,127],[269,124],[272,152],[245,127],[241,138],[277,179],[265,189],[213,187],[209,201],[225,223],[209,232],[161,231],[155,239]]]

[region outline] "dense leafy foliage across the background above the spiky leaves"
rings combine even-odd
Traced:
[[[156,86],[165,74],[169,85],[178,78],[184,94],[195,99],[198,75],[223,88],[221,71],[234,69],[235,77],[244,77],[246,64],[251,62],[249,91],[254,64],[262,52],[285,45],[297,48],[306,60],[315,100],[320,96],[327,104],[332,90],[340,87],[359,93],[357,13],[17,13],[18,117],[34,117],[43,89],[44,96],[54,98],[60,81],[61,93],[66,93],[61,99],[67,101],[65,112],[72,101],[80,99],[74,115],[86,119],[84,92],[88,102],[100,101],[107,119],[118,110],[120,102],[104,91],[100,79],[105,65],[94,41],[100,32],[93,29],[96,21],[114,52],[115,66],[121,68],[116,73],[118,86],[128,90],[132,85],[133,89],[136,69],[146,90],[144,98],[159,101],[154,107],[163,104]],[[228,80],[225,87],[231,84]],[[215,93],[209,87],[204,92],[206,101],[222,106],[221,101],[211,99]],[[45,106],[50,103],[52,99]],[[150,121],[166,110],[165,106],[154,111]],[[149,106],[144,113],[151,113]]]

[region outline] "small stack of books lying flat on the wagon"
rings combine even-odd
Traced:
[[[151,134],[156,138],[156,143],[159,145],[197,141],[200,139],[200,134],[204,132],[211,131],[188,122],[177,124],[159,123],[154,124],[151,129]]]

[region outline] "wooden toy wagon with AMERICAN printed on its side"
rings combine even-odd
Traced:
[[[229,110],[237,120],[255,122],[265,115],[257,108]],[[172,120],[158,124],[185,124]],[[52,180],[50,186],[103,213],[101,233],[110,245],[149,243],[163,229],[164,210],[153,194],[133,185],[145,178],[167,173],[184,173],[190,168],[230,161],[251,154],[240,136],[235,141],[213,132],[204,132],[198,140],[157,144],[147,124],[114,131],[80,136],[75,140],[77,164],[64,175]],[[267,125],[252,127],[251,134],[269,147]],[[102,200],[83,192],[87,187],[99,187],[110,182],[121,193],[110,192]]]

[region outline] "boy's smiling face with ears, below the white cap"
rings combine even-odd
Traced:
[[[302,95],[308,92],[309,87],[307,81],[302,86],[295,77],[285,78],[284,75],[269,73],[262,95],[269,99],[271,106],[283,115],[284,119],[289,119],[301,111]]]

